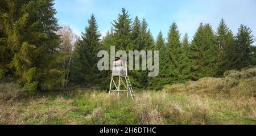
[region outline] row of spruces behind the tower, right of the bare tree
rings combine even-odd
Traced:
[[[255,65],[254,36],[251,29],[241,24],[236,35],[225,24],[224,19],[216,30],[210,24],[199,25],[193,40],[187,33],[183,38],[173,23],[168,37],[159,32],[156,41],[151,35],[145,19],[136,16],[132,20],[125,9],[113,27],[100,40],[94,15],[82,35],[74,58],[71,82],[90,85],[100,84],[108,88],[111,71],[97,70],[97,52],[115,46],[116,50],[159,50],[159,76],[148,77],[148,71],[129,71],[134,87],[159,90],[164,84],[184,83],[207,76],[222,76],[225,71]],[[78,70],[78,71],[76,71]],[[86,80],[86,82],[84,82]]]

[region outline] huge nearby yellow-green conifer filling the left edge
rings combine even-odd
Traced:
[[[8,54],[1,57],[4,69],[15,74],[20,86],[31,93],[59,85],[56,58],[60,39],[53,1],[1,1],[1,10],[1,54]]]

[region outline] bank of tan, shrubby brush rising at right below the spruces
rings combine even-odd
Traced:
[[[168,92],[225,92],[236,96],[256,96],[256,67],[242,71],[230,70],[224,73],[225,78],[202,78],[196,82],[185,84],[172,84],[164,86]]]

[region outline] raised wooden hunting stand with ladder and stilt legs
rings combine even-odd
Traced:
[[[110,82],[109,96],[113,95],[114,92],[117,92],[117,97],[119,98],[120,92],[124,91],[127,92],[127,98],[130,94],[131,99],[134,100],[134,91],[133,87],[131,86],[127,71],[127,59],[115,58],[112,67],[112,78]]]

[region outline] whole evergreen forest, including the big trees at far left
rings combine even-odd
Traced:
[[[199,24],[192,41],[181,37],[170,23],[167,37],[154,39],[146,19],[132,19],[122,9],[112,28],[101,38],[94,15],[81,38],[68,26],[57,24],[53,0],[0,1],[0,79],[14,78],[20,87],[54,90],[75,86],[109,87],[111,71],[99,71],[100,50],[159,50],[159,75],[129,71],[135,88],[160,90],[165,84],[185,83],[204,77],[220,77],[227,70],[256,64],[255,38],[246,25],[233,33],[221,19],[214,30]],[[86,24],[86,22],[85,22]]]

